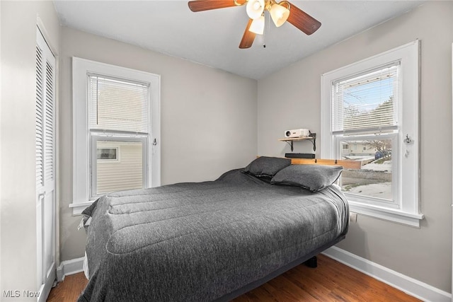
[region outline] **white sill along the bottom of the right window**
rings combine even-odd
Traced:
[[[412,226],[420,228],[420,220],[425,216],[423,214],[408,213],[400,209],[389,209],[384,207],[377,207],[370,204],[362,204],[360,202],[348,202],[349,209],[357,214],[367,215],[386,221],[400,223],[405,226]]]

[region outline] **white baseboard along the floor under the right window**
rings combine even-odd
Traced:
[[[422,301],[452,302],[452,294],[446,291],[395,272],[336,246],[328,248],[323,254]]]

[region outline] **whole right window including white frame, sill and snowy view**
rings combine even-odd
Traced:
[[[418,227],[418,49],[411,42],[322,76],[321,157],[360,161],[340,180],[351,211]]]

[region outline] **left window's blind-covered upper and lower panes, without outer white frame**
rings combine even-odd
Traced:
[[[91,199],[147,187],[149,83],[98,74],[87,77]],[[117,158],[119,150],[122,161]]]

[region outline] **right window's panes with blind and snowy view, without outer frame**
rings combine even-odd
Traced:
[[[397,173],[392,167],[398,166],[398,158],[392,158],[391,146],[399,130],[400,72],[400,62],[392,62],[331,84],[334,144],[352,146],[335,157],[361,161],[363,170],[343,173],[343,191],[388,207],[398,201],[398,190],[392,190],[392,175]]]

